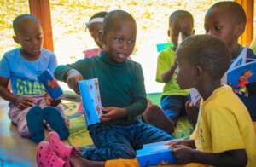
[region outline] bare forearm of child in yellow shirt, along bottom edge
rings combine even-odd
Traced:
[[[172,147],[177,164],[200,163],[212,166],[246,166],[245,149],[230,150],[223,153],[205,153],[182,145]]]

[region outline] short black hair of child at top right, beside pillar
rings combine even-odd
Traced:
[[[234,20],[236,24],[243,24],[243,26],[246,26],[247,16],[244,9],[242,9],[239,3],[232,1],[223,1],[213,4],[210,9],[213,8],[223,9],[225,14],[228,14],[230,16],[230,20]],[[208,9],[208,11],[210,9]]]

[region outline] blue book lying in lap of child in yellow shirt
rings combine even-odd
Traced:
[[[141,167],[157,165],[162,162],[174,164],[176,158],[172,155],[172,149],[168,146],[161,145],[157,147],[145,147],[137,150],[137,161]]]

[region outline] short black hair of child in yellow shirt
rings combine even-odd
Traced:
[[[177,56],[189,60],[192,66],[201,66],[211,78],[220,79],[230,66],[230,50],[223,40],[212,35],[187,37],[177,48]]]

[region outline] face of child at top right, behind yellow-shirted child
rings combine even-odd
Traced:
[[[210,9],[205,17],[205,30],[207,34],[224,40],[224,43],[231,48],[234,43],[237,43],[239,34],[236,32],[237,25],[228,14],[224,13],[221,9]]]

